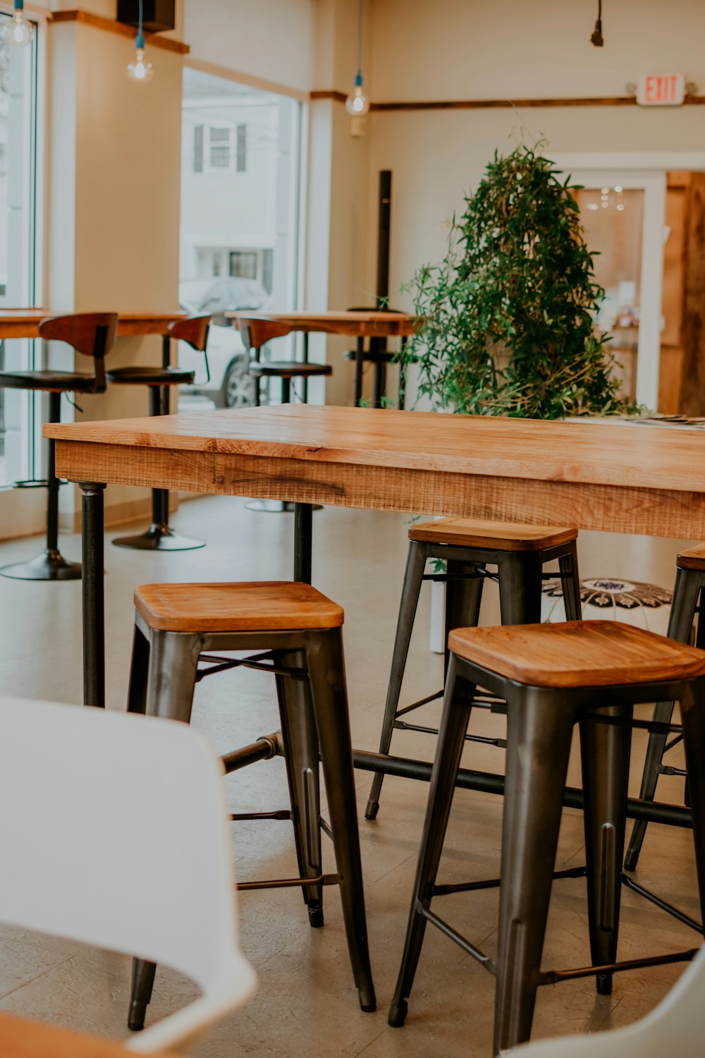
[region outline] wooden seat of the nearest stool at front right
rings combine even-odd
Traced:
[[[534,687],[619,687],[705,675],[705,652],[617,621],[456,628],[448,646]]]

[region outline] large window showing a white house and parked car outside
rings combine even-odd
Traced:
[[[296,306],[302,108],[188,65],[183,87],[179,302],[214,320],[211,378],[206,385],[197,371],[194,387],[180,395],[187,408],[242,402],[252,390],[233,384],[242,345],[228,311]],[[294,345],[277,355],[292,355]],[[183,366],[197,368],[187,354],[182,343]]]

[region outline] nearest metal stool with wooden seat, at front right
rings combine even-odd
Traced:
[[[691,768],[692,832],[705,917],[705,652],[614,621],[460,628],[451,651],[443,719],[406,946],[389,1024],[400,1026],[426,929],[438,926],[497,978],[494,1053],[528,1039],[541,984],[595,974],[598,992],[619,969],[683,961],[694,951],[617,963],[632,707],[676,698]],[[463,686],[464,685],[464,686]],[[437,874],[470,716],[472,692],[506,701],[507,749],[499,942],[484,955],[431,911],[433,896],[483,888],[438,886]],[[588,913],[592,967],[541,972],[573,728],[580,725]],[[497,884],[496,881],[489,884]]]

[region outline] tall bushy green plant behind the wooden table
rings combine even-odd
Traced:
[[[605,291],[570,177],[536,149],[495,154],[444,259],[405,289],[423,324],[402,367],[415,365],[431,407],[540,419],[635,409],[595,328]]]

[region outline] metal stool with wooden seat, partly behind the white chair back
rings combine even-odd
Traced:
[[[241,889],[301,887],[312,926],[323,925],[322,887],[340,889],[353,977],[363,1010],[374,1010],[342,656],[344,613],[309,584],[148,584],[134,594],[135,630],[128,709],[189,723],[193,689],[205,675],[246,665],[271,672],[281,734],[224,758],[227,770],[283,744],[290,811],[237,819],[291,819],[299,877],[247,882]],[[212,651],[256,651],[234,660]],[[199,660],[205,668],[199,669]],[[255,744],[257,746],[257,744]],[[320,819],[318,761],[323,769],[330,826]],[[323,874],[321,828],[333,840],[337,874]],[[151,997],[154,964],[135,960],[129,1024],[141,1028]]]

